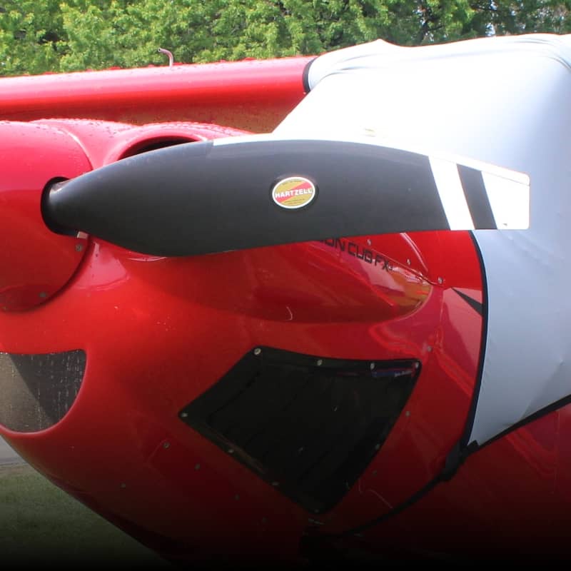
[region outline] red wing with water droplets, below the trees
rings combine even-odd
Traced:
[[[271,131],[303,98],[311,57],[0,79],[0,118],[203,121]]]

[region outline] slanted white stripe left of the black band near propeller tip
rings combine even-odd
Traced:
[[[474,222],[456,163],[430,157],[430,168],[450,230],[474,230]]]

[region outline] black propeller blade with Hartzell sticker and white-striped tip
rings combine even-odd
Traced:
[[[514,223],[509,214],[507,222],[497,220],[506,208],[490,200],[485,175],[374,144],[251,136],[124,158],[54,187],[42,208],[51,228],[84,231],[156,256],[340,236],[527,227],[527,177],[503,169],[490,175],[507,181],[510,200],[522,203],[525,213]]]

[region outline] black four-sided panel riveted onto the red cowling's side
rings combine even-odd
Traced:
[[[257,348],[181,419],[306,510],[341,500],[383,445],[417,360],[341,360]]]

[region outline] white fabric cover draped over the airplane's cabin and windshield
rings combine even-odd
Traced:
[[[412,48],[373,41],[319,56],[308,84],[276,136],[366,140],[434,156],[459,227],[470,228],[470,214],[446,161],[498,167],[485,186],[504,229],[474,231],[487,338],[469,440],[482,445],[570,395],[571,35]]]

